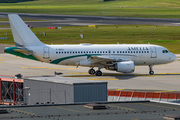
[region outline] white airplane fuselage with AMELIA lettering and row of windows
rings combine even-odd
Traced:
[[[51,63],[60,59],[60,65],[77,65],[91,56],[106,56],[121,61],[134,61],[135,65],[157,65],[173,62],[176,56],[166,48],[150,44],[116,45],[46,45],[30,47],[41,61]],[[91,65],[82,65],[91,66]],[[94,66],[96,67],[96,66]]]

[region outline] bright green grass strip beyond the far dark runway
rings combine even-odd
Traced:
[[[0,12],[180,18],[179,0],[36,0],[1,3]]]

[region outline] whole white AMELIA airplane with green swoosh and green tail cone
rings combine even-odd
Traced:
[[[90,44],[47,45],[42,43],[17,14],[9,14],[15,47],[4,51],[16,56],[41,62],[90,67],[88,73],[101,76],[101,69],[132,73],[135,65],[153,66],[166,64],[177,59],[166,48],[151,44]],[[98,67],[95,71],[94,67]]]

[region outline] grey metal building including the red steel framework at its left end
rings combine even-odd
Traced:
[[[9,105],[107,101],[107,82],[66,77],[1,76],[0,102]]]

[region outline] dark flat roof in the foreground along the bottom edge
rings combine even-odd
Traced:
[[[163,116],[179,115],[179,105],[156,102],[102,103],[107,109],[92,110],[84,104],[61,104],[48,106],[5,107],[9,114],[1,114],[0,119],[29,120],[160,120]]]

